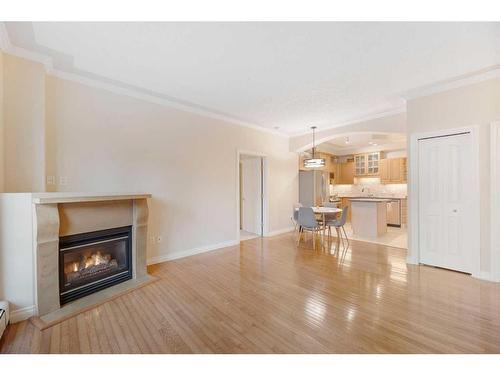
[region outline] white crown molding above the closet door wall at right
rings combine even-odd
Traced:
[[[500,64],[487,67],[485,69],[477,70],[468,74],[463,74],[458,77],[450,78],[447,80],[439,81],[430,85],[418,87],[416,89],[408,90],[401,93],[401,97],[405,100],[413,100],[432,94],[437,94],[443,91],[456,89],[459,87],[473,85],[487,81],[489,79],[500,77]]]

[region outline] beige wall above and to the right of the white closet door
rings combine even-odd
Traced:
[[[500,79],[409,100],[408,134],[479,126],[481,270],[490,270],[489,124],[500,120]]]

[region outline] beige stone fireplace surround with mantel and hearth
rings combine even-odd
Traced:
[[[43,328],[152,280],[146,270],[150,194],[33,194],[34,319]],[[59,237],[132,226],[132,279],[89,296],[59,303]]]

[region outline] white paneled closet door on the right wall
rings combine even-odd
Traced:
[[[471,273],[472,136],[421,139],[418,155],[420,262]]]

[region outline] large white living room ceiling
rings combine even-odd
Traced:
[[[6,23],[58,70],[294,134],[500,63],[500,23]]]

